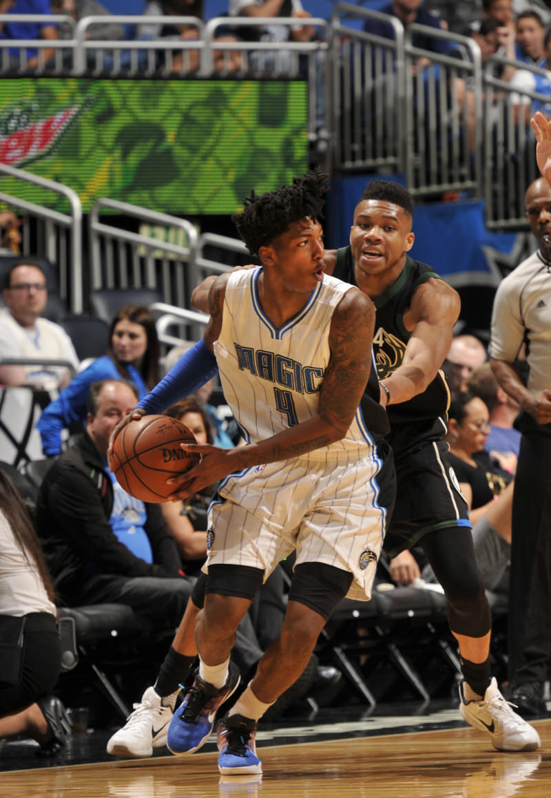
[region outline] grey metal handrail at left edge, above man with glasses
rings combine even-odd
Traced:
[[[81,200],[69,186],[55,183],[46,177],[39,177],[23,169],[16,169],[7,164],[0,164],[0,175],[6,175],[26,183],[61,195],[69,202],[69,214],[54,211],[53,208],[38,205],[22,199],[17,195],[0,191],[0,200],[10,207],[24,211],[39,219],[42,223],[44,254],[59,270],[59,290],[72,313],[82,311],[82,209]]]

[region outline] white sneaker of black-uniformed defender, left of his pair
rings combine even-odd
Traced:
[[[141,703],[133,705],[134,711],[125,725],[107,743],[107,753],[113,757],[151,757],[154,748],[166,745],[178,692],[161,698],[153,687],[148,687]]]

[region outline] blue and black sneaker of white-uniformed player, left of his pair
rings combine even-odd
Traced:
[[[168,726],[168,750],[175,754],[193,753],[210,737],[216,711],[237,689],[239,668],[230,662],[228,678],[220,689],[203,681],[197,670],[195,681]]]

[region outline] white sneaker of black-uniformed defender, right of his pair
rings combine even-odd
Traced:
[[[459,711],[462,718],[474,729],[490,733],[494,749],[535,751],[540,747],[540,736],[536,729],[513,712],[511,705],[499,692],[495,678],[490,681],[482,701],[467,701],[463,685],[464,682],[459,685]]]

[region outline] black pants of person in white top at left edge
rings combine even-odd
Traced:
[[[57,682],[60,666],[61,646],[54,615],[27,614],[18,685],[2,687],[0,674],[0,717],[20,712],[48,695]]]

